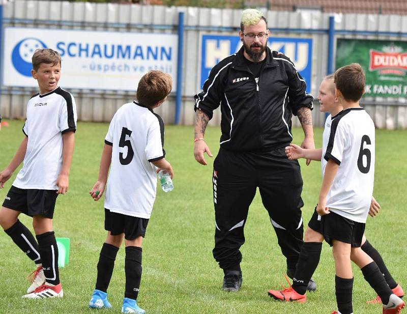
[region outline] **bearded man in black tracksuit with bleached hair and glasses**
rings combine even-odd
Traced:
[[[243,11],[239,35],[242,48],[220,61],[195,95],[194,156],[203,165],[205,152],[212,157],[203,136],[213,110],[221,109],[222,135],[213,171],[213,255],[224,271],[225,291],[238,291],[242,284],[239,248],[256,187],[286,257],[287,274],[293,277],[303,243],[304,203],[300,165],[284,152],[293,140],[292,115],[304,130],[302,147],[314,148],[313,97],[305,92],[294,64],[267,47],[266,18],[255,9]],[[315,290],[315,283],[308,288]]]

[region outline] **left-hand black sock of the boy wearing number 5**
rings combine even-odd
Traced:
[[[119,248],[117,246],[103,243],[100,250],[98,262],[98,276],[96,278],[95,289],[107,292],[109,287],[111,275],[113,274],[114,261],[118,254]]]

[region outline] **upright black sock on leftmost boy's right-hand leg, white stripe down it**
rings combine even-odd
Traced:
[[[40,249],[42,268],[45,281],[55,286],[60,283],[60,271],[58,269],[58,246],[56,245],[53,231],[36,236]]]

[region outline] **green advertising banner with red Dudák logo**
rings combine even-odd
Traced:
[[[407,42],[338,39],[336,68],[359,63],[366,73],[365,95],[407,95]]]

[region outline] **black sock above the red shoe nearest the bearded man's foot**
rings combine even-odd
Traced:
[[[304,242],[293,278],[293,289],[299,294],[307,292],[309,279],[311,279],[321,256],[321,242]]]

